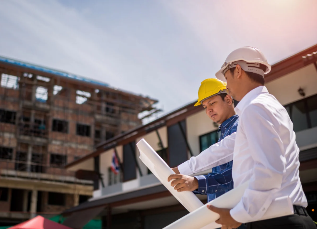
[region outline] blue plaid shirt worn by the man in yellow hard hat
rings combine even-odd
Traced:
[[[218,142],[237,131],[238,120],[238,115],[233,115],[220,125],[218,132],[220,131],[221,135]],[[212,168],[212,173],[208,173],[208,175],[195,176],[198,180],[198,189],[194,193],[207,194],[208,202],[210,202],[233,189],[232,163],[233,161],[230,161],[216,166]]]

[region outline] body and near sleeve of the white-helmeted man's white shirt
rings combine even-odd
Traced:
[[[288,196],[307,206],[299,178],[299,148],[286,109],[266,87],[250,91],[235,108],[239,125],[233,153],[234,187],[250,180],[231,216],[246,223],[262,218],[272,201]]]

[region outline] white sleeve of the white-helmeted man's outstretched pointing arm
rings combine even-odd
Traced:
[[[177,167],[179,173],[191,175],[232,161],[235,139],[236,132],[211,145],[196,157],[191,157]]]

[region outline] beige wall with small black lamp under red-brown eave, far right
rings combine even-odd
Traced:
[[[314,64],[310,64],[270,81],[265,86],[282,105],[286,105],[303,98],[297,91],[300,87],[304,89],[306,97],[317,93],[317,70]]]

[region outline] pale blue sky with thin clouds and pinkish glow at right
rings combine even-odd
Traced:
[[[317,43],[316,0],[0,0],[0,56],[159,100],[197,100],[231,51],[274,64]]]

